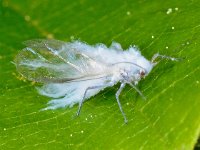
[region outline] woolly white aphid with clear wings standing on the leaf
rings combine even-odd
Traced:
[[[156,59],[176,60],[155,54],[149,61],[135,47],[123,51],[116,42],[109,48],[104,44],[91,46],[80,41],[58,40],[30,40],[25,45],[27,47],[14,62],[28,80],[44,83],[38,88],[40,94],[54,98],[43,110],[79,103],[79,115],[86,99],[120,82],[115,96],[125,123],[127,118],[119,100],[125,85],[130,85],[145,98],[136,85],[156,65]]]

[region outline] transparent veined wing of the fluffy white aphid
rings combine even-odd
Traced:
[[[102,64],[78,47],[58,40],[30,40],[15,58],[17,70],[37,82],[61,82],[90,78],[101,74]]]

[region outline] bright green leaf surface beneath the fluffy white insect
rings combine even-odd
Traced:
[[[193,149],[200,133],[199,0],[1,0],[0,149]],[[171,9],[172,11],[171,11]],[[50,100],[24,82],[11,63],[23,41],[80,39],[137,45],[161,61],[135,90],[115,100],[119,85],[73,108],[39,111]],[[20,80],[21,79],[21,80]]]

